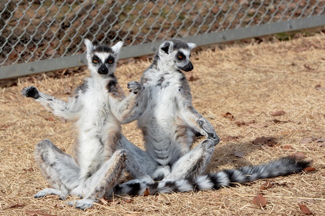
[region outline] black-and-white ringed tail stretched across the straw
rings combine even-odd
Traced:
[[[299,173],[309,166],[309,161],[297,160],[295,157],[289,156],[255,166],[245,166],[209,173],[192,180],[184,179],[175,181],[172,179],[164,179],[151,184],[131,180],[130,183],[126,182],[122,185],[117,185],[114,193],[142,196],[146,189],[149,190],[150,195],[195,190],[217,190],[221,187],[229,187],[236,183],[247,183],[258,179],[268,179]]]

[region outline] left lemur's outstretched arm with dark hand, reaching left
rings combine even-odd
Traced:
[[[21,91],[24,97],[34,98],[44,108],[51,111],[54,115],[64,117],[67,120],[76,120],[79,116],[81,106],[77,103],[77,97],[69,99],[69,102],[61,101],[53,96],[38,92],[31,86],[23,88]]]

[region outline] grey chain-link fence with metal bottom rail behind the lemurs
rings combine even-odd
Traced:
[[[285,22],[289,25],[282,31],[288,31],[324,25],[324,14],[325,0],[0,1],[0,71],[3,71],[0,79],[17,76],[17,73],[82,65],[83,57],[73,61],[60,57],[83,53],[83,38],[108,45],[123,40],[128,46],[124,52],[136,47],[124,56],[131,57],[149,54],[158,42],[172,37],[193,39],[195,36],[196,42],[204,45],[236,39],[225,35],[236,29],[245,31],[233,32],[235,35],[251,33],[252,26],[269,29],[271,24]],[[307,17],[317,19],[308,19],[306,23]],[[261,31],[265,30],[257,29],[256,36],[274,33],[277,29]],[[225,34],[219,35],[219,39],[213,39],[217,35],[211,34],[208,39],[211,42],[204,43],[206,35],[216,32]],[[141,52],[144,48],[134,46],[139,44],[149,44],[150,51]],[[59,61],[55,61],[56,58]],[[44,59],[53,61],[38,61]],[[33,64],[28,64],[30,62]],[[17,65],[19,67],[14,67]],[[29,72],[17,71],[21,69]]]

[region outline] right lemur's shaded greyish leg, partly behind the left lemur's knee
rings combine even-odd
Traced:
[[[120,139],[121,148],[129,151],[126,160],[126,171],[131,174],[138,182],[152,183],[150,174],[156,169],[156,162],[150,155],[132,144],[125,136]]]

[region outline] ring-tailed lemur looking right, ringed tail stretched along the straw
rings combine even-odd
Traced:
[[[193,43],[179,39],[164,42],[154,61],[141,77],[142,90],[128,121],[137,119],[145,140],[145,153],[152,160],[147,173],[160,182],[145,184],[131,180],[115,187],[117,194],[218,189],[234,182],[244,183],[300,172],[309,165],[295,158],[280,158],[266,164],[202,175],[218,144],[213,126],[192,106],[190,87],[181,71],[191,71]],[[208,139],[190,150],[196,135]],[[138,149],[138,152],[141,150]]]

